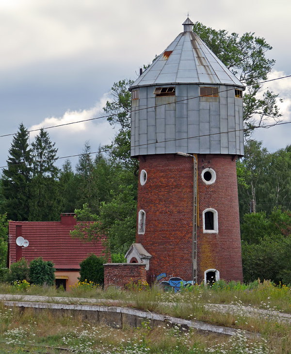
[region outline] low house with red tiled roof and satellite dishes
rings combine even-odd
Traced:
[[[69,290],[70,285],[78,282],[80,263],[83,259],[92,253],[98,257],[105,256],[105,246],[101,240],[83,242],[71,237],[70,231],[77,224],[79,222],[77,222],[74,213],[61,214],[61,221],[10,221],[9,267],[11,263],[21,257],[24,257],[28,262],[38,257],[42,257],[46,261],[50,260],[56,269],[56,286],[62,284],[66,290]],[[28,242],[18,246],[16,244],[18,237],[22,237]]]

